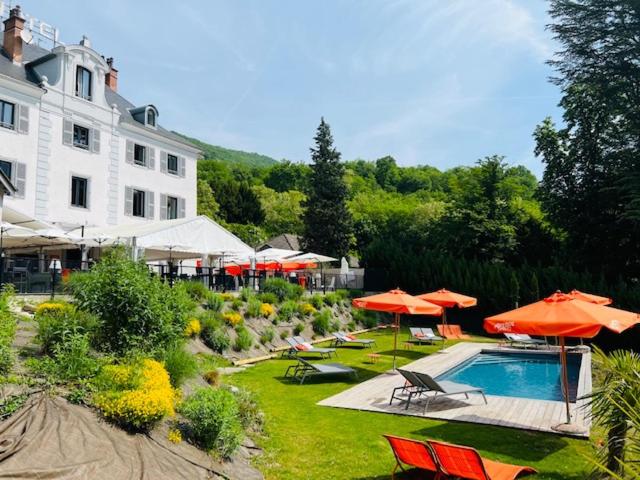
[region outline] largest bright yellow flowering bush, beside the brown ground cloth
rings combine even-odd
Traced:
[[[98,384],[106,389],[94,396],[94,405],[108,420],[146,429],[175,415],[179,392],[171,387],[161,363],[145,359],[135,365],[110,365],[100,377]]]

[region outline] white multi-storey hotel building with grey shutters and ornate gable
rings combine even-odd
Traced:
[[[19,7],[0,18],[5,206],[63,229],[194,217],[199,150],[118,94],[113,61],[87,38],[35,45]]]

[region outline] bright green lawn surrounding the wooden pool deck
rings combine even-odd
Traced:
[[[256,466],[267,479],[389,479],[394,458],[383,433],[470,445],[488,458],[537,468],[540,473],[531,477],[536,480],[586,478],[590,470],[586,457],[593,450],[591,443],[585,440],[317,406],[319,400],[391,368],[391,332],[372,332],[362,337],[376,339],[374,351],[383,355],[378,364],[368,363],[365,356],[370,352],[368,349],[341,348],[337,359],[357,368],[358,380],[312,379],[308,384],[292,384],[283,378],[292,361],[280,359],[263,362],[226,378],[255,392],[265,412],[266,436],[258,439],[265,454],[257,458]],[[406,334],[400,338],[404,340]],[[402,343],[400,346],[402,348]],[[433,353],[437,348],[400,349],[398,365]]]

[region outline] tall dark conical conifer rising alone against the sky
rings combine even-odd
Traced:
[[[352,239],[351,213],[340,152],[329,124],[320,121],[311,150],[311,181],[304,214],[305,249],[337,258],[347,255]]]

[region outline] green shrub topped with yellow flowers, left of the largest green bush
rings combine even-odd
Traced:
[[[98,327],[95,316],[69,304],[41,303],[39,307],[42,306],[36,309],[34,318],[38,324],[36,338],[45,353],[52,353],[70,335],[92,334]]]

